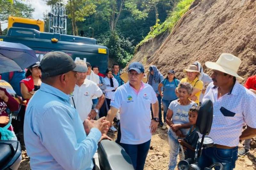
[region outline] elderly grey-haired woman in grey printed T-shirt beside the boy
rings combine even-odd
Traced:
[[[191,126],[188,120],[188,111],[192,106],[197,105],[194,101],[189,100],[193,87],[188,82],[180,82],[177,91],[179,99],[170,103],[166,116],[166,123],[170,126],[168,129],[169,170],[174,170],[177,163],[180,148],[178,139],[184,138]]]

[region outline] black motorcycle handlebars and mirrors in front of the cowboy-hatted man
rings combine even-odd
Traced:
[[[178,163],[179,170],[201,170],[198,166],[199,158],[202,154],[203,149],[213,146],[213,140],[211,137],[205,137],[209,135],[212,127],[213,118],[213,105],[211,100],[206,100],[202,103],[199,109],[197,120],[196,120],[196,131],[202,134],[202,137],[198,139],[196,147],[195,160],[186,159],[181,160]],[[212,170],[212,168],[218,167],[219,170],[223,170],[221,163],[212,164],[210,167],[204,168],[204,170]]]

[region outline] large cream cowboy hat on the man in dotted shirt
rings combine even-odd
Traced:
[[[231,76],[244,79],[237,74],[237,70],[241,64],[241,60],[235,55],[222,53],[219,59],[214,62],[205,62],[205,66],[212,70],[218,70]]]

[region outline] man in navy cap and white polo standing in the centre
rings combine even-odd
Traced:
[[[159,122],[156,92],[152,86],[142,82],[143,77],[143,65],[131,63],[128,67],[128,82],[116,89],[106,118],[112,122],[120,109],[120,143],[131,157],[135,170],[143,170],[151,133],[156,131]],[[152,120],[150,104],[154,115]]]

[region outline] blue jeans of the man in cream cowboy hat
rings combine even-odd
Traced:
[[[209,167],[214,163],[222,163],[224,170],[232,170],[236,166],[238,147],[232,149],[219,149],[215,147],[203,150],[199,158],[199,166],[201,169]],[[218,170],[217,168],[215,168]]]

